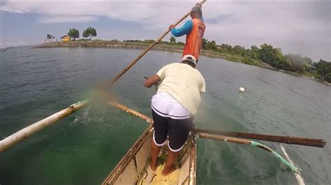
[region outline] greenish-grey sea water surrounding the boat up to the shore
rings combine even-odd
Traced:
[[[140,50],[21,47],[0,53],[0,139],[94,95]],[[181,54],[149,51],[112,90],[151,115],[154,88],[143,77]],[[283,144],[307,184],[331,183],[331,88],[302,77],[219,58],[200,57],[205,77],[196,127],[323,138],[325,148]],[[238,93],[240,87],[245,93]],[[92,104],[0,153],[0,184],[101,184],[147,123]],[[261,142],[281,153],[279,143]],[[295,184],[270,153],[198,138],[197,184]]]

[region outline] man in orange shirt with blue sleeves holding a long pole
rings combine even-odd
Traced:
[[[201,45],[203,43],[203,34],[206,29],[205,23],[203,22],[203,10],[200,4],[193,6],[191,10],[191,18],[191,20],[185,22],[182,28],[175,29],[175,26],[171,24],[169,29],[175,37],[186,35],[183,56],[187,54],[193,55],[198,62]]]

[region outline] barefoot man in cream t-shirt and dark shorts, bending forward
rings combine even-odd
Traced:
[[[196,58],[185,55],[182,63],[165,65],[146,79],[145,87],[159,82],[159,89],[152,97],[154,134],[150,167],[156,170],[157,157],[168,136],[170,151],[162,175],[169,175],[176,170],[174,162],[193,127],[193,118],[201,102],[200,93],[205,92],[205,79],[196,70]]]

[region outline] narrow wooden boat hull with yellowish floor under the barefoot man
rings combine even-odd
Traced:
[[[166,145],[159,155],[161,165],[156,171],[149,168],[153,132],[150,124],[102,184],[196,184],[196,138],[189,136],[186,140],[177,160],[179,169],[163,176],[161,170],[162,161],[167,156]]]

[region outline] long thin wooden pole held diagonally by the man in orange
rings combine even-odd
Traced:
[[[200,5],[203,5],[203,3],[205,3],[206,0],[203,0],[200,2]],[[182,18],[180,18],[175,24],[173,24],[174,26],[177,26],[177,24],[179,24],[180,22],[182,22],[186,17],[188,17],[189,15],[191,14],[191,11],[189,11],[188,13],[186,13]],[[158,42],[160,42],[164,37],[165,35],[167,35],[168,33],[170,32],[170,29],[168,28],[167,31],[165,31],[164,33],[162,33],[162,35],[157,38],[155,40],[154,43],[152,43],[151,45],[149,45],[149,47],[147,47],[144,51],[142,51],[142,53],[137,56],[135,59],[133,59],[133,61],[131,61],[131,63],[129,63],[128,65],[126,65],[126,67],[124,67],[124,69],[119,72],[119,74],[117,74],[114,78],[112,78],[112,80],[110,81],[109,83],[109,86],[112,86],[112,84],[115,83],[115,81],[117,81],[120,77],[122,77],[122,75],[124,73],[126,73],[128,70],[130,70],[130,68],[135,65],[135,63],[137,63],[140,58],[142,58],[142,56],[144,56],[145,54],[147,54],[147,52],[152,49],[152,47],[154,47]]]

